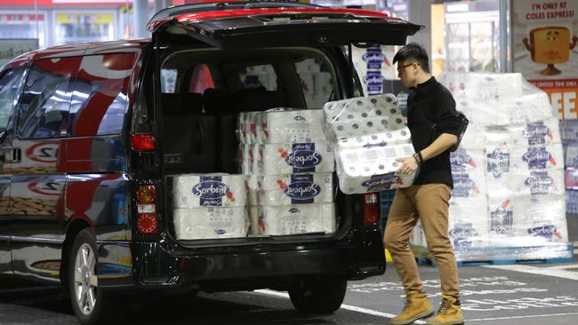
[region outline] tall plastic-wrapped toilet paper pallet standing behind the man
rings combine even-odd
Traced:
[[[470,125],[452,153],[449,236],[458,261],[571,258],[564,154],[545,93],[519,74],[451,74]],[[419,229],[413,245],[424,247]]]

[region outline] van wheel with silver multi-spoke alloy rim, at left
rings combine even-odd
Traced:
[[[96,251],[94,236],[89,229],[83,229],[76,235],[68,259],[68,287],[72,309],[83,325],[102,321],[103,310],[107,304],[105,295],[99,288]]]

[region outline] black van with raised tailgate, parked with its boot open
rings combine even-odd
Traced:
[[[166,179],[238,172],[240,112],[360,96],[351,45],[419,29],[364,10],[189,4],[158,12],[152,39],[13,59],[0,70],[0,274],[60,282],[83,324],[115,290],[270,288],[333,312],[347,281],[385,271],[376,194],[337,190],[332,234],[179,240]]]

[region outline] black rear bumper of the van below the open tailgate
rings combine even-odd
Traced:
[[[132,276],[124,278],[124,285],[121,279],[99,279],[102,287],[170,289],[187,284],[224,291],[283,286],[309,275],[339,274],[357,280],[385,272],[378,229],[352,231],[341,241],[186,248],[165,238],[131,246]]]

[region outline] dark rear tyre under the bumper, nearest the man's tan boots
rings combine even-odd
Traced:
[[[289,290],[293,306],[301,313],[333,313],[345,297],[347,280],[339,275],[304,279],[301,286]]]

